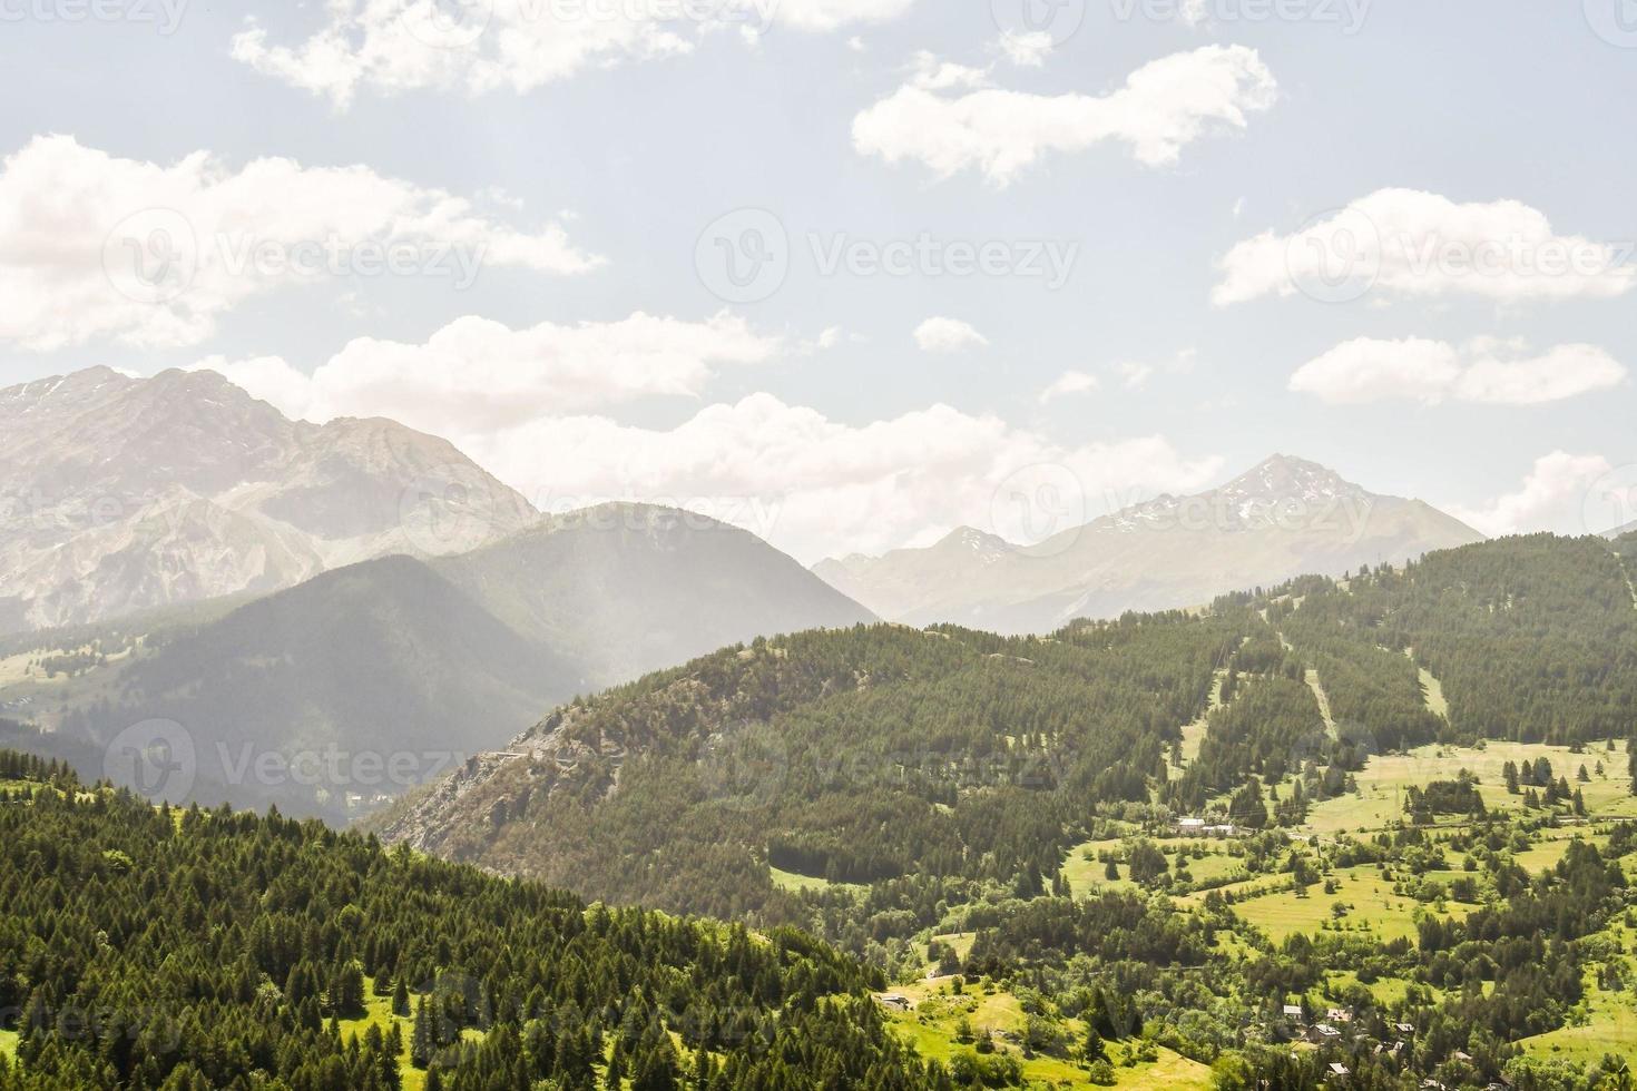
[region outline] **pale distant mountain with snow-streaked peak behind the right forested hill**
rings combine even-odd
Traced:
[[[1036,546],[963,528],[925,550],[823,561],[814,572],[891,620],[1046,633],[1077,617],[1203,605],[1481,538],[1421,501],[1375,496],[1277,455],[1211,492],[1162,496]]]

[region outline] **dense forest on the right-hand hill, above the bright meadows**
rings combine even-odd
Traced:
[[[1221,707],[1184,769],[1180,728],[1218,672]],[[380,829],[589,896],[784,921],[802,911],[769,867],[1039,891],[1098,808],[1188,813],[1241,792],[1239,818],[1260,826],[1259,783],[1292,774],[1300,811],[1370,754],[1634,725],[1637,610],[1617,558],[1598,540],[1508,540],[1228,597],[1205,617],[724,649],[557,710]]]

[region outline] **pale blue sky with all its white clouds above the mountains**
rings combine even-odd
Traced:
[[[0,384],[211,366],[807,563],[1275,451],[1486,533],[1637,519],[1632,0],[0,23]]]

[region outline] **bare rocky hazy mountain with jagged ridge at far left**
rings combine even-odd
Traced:
[[[213,371],[108,368],[0,391],[0,631],[268,592],[537,515],[450,443],[293,422]]]

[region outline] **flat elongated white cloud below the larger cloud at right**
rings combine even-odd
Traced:
[[[1475,340],[1465,347],[1408,337],[1360,337],[1301,365],[1290,389],[1334,406],[1465,401],[1537,406],[1626,383],[1626,368],[1594,345],[1558,345],[1527,355],[1522,342]]]

